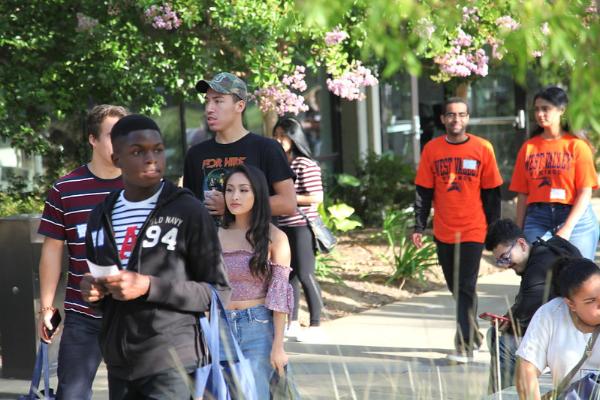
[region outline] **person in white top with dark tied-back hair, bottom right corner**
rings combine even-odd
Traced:
[[[519,399],[540,399],[538,377],[548,367],[553,386],[582,358],[592,332],[600,326],[600,268],[585,258],[564,258],[554,266],[553,281],[560,297],[533,316],[517,350]],[[600,344],[572,381],[600,370]]]

